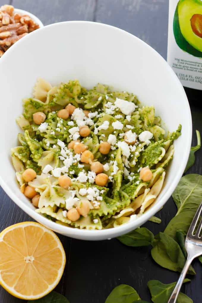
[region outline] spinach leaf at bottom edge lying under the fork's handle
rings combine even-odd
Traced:
[[[184,282],[189,282],[189,279],[184,279]],[[172,291],[176,285],[176,282],[173,282],[171,284],[163,284],[160,281],[157,280],[151,280],[147,283],[148,288],[151,293],[151,300],[154,303],[167,303],[169,300]],[[177,303],[193,303],[193,301],[180,292]]]

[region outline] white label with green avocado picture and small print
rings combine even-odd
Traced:
[[[167,62],[183,86],[202,90],[202,0],[170,0]]]

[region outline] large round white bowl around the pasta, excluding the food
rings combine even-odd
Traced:
[[[192,122],[184,89],[167,62],[149,45],[110,25],[71,21],[40,28],[9,48],[0,60],[1,157],[0,184],[28,215],[52,230],[83,240],[103,240],[142,225],[168,200],[179,182],[189,156]],[[106,230],[82,230],[52,222],[35,212],[16,182],[10,148],[19,132],[15,118],[22,113],[22,98],[30,97],[40,76],[58,85],[78,78],[92,88],[98,82],[137,94],[145,105],[154,105],[170,131],[182,124],[174,142],[175,154],[164,188],[155,203],[135,221]]]

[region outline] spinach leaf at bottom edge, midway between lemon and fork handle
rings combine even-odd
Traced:
[[[105,303],[133,303],[138,300],[140,297],[133,287],[121,284],[111,291]]]

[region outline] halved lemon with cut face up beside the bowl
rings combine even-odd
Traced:
[[[39,223],[18,223],[0,233],[0,285],[17,298],[47,295],[60,281],[65,261],[59,238]]]

